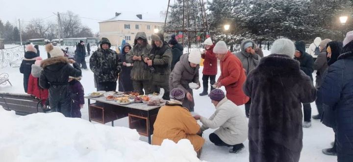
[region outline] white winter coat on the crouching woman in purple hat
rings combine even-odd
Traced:
[[[248,139],[248,121],[240,108],[226,97],[216,106],[216,112],[207,119],[200,118],[202,131],[217,129],[214,133],[229,145],[243,143]]]

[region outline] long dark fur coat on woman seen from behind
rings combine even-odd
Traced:
[[[316,89],[299,62],[276,54],[262,58],[249,73],[244,92],[252,98],[250,162],[299,162],[302,103],[316,98]]]

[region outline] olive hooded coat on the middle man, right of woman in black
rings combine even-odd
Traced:
[[[140,45],[137,40],[141,38],[145,41],[145,45]],[[141,61],[132,60],[133,56],[146,57],[151,51],[151,45],[148,44],[147,36],[144,32],[138,32],[135,37],[134,47],[126,54],[126,61],[133,63],[132,70],[130,73],[131,80],[133,81],[148,81],[151,79],[150,68],[142,59]]]

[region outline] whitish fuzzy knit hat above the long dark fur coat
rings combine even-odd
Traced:
[[[287,55],[294,58],[295,46],[293,41],[288,39],[278,39],[272,44],[271,54]]]

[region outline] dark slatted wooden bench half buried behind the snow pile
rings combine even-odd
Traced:
[[[13,110],[17,115],[28,115],[43,111],[42,100],[34,95],[0,92],[0,105]]]

